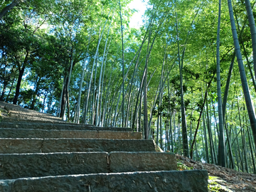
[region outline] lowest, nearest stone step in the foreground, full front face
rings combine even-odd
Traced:
[[[208,191],[206,170],[142,171],[0,180],[0,191]]]

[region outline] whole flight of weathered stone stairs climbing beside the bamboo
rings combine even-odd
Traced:
[[[141,132],[0,107],[0,191],[208,191],[207,171],[176,171]]]

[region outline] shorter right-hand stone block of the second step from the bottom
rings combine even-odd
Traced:
[[[177,169],[175,154],[157,152],[111,152],[110,172],[171,171]]]

